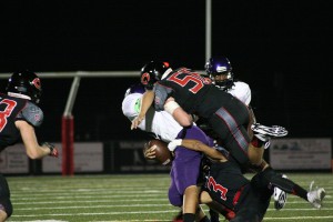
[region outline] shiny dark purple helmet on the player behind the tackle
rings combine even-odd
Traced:
[[[233,85],[233,73],[232,67],[230,61],[225,57],[216,57],[210,58],[209,61],[205,63],[205,71],[218,87],[223,90],[228,90]],[[215,80],[216,75],[225,74],[226,79],[224,80]]]

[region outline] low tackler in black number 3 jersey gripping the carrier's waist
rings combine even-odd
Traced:
[[[178,145],[201,151],[215,160],[212,161],[203,192],[200,195],[203,203],[216,201],[224,205],[229,209],[228,220],[232,222],[260,222],[263,220],[273,193],[270,178],[274,178],[275,172],[271,168],[256,173],[250,182],[232,159],[219,159],[221,152],[215,148],[210,148],[195,140],[174,140],[169,143],[168,148],[170,151],[174,151]],[[218,159],[219,161],[216,161]],[[290,189],[285,191],[290,194],[304,199],[316,209],[322,206],[325,196],[323,188],[313,189],[312,182],[307,192],[290,179],[282,180],[289,184]]]

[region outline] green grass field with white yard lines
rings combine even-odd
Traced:
[[[304,188],[314,180],[324,186],[321,210],[289,195],[275,211],[272,202],[264,221],[333,221],[333,175],[295,174],[289,178]],[[169,174],[8,176],[13,203],[9,221],[171,221],[179,212],[168,201]],[[206,208],[204,206],[206,210]],[[221,220],[222,216],[221,216]]]

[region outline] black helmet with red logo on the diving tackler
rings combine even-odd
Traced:
[[[150,61],[141,69],[141,83],[145,89],[152,90],[154,83],[160,81],[163,73],[170,69],[168,62]]]

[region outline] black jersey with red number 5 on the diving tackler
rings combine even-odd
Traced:
[[[163,110],[168,98],[174,100],[188,112],[208,118],[232,100],[232,95],[219,90],[211,80],[186,68],[168,74],[154,85],[155,109]]]

